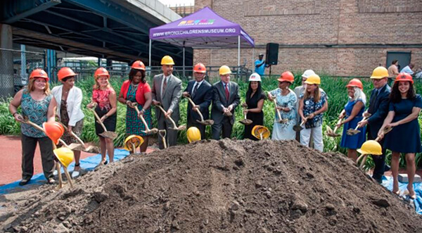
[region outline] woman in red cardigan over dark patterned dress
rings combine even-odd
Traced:
[[[128,106],[126,110],[126,133],[127,135],[139,135],[143,138],[141,144],[141,152],[145,152],[148,146],[148,135],[145,132],[146,127],[139,115],[142,115],[148,125],[148,128],[153,126],[151,118],[151,102],[153,97],[151,95],[151,87],[145,80],[145,65],[142,61],[135,61],[132,64],[132,69],[129,72],[129,80],[122,84],[120,89],[119,102]],[[136,110],[132,108],[132,103],[138,103],[139,115]]]

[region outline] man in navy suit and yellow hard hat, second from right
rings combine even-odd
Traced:
[[[369,108],[367,111],[367,113],[371,114],[371,117],[359,124],[360,127],[364,127],[368,124],[366,132],[368,132],[369,140],[376,139],[378,131],[388,115],[388,105],[390,104],[388,97],[391,92],[391,88],[387,84],[388,70],[386,68],[382,66],[375,68],[372,72],[371,80],[374,88],[371,92],[371,99],[369,99]],[[379,141],[381,146],[383,145],[383,142],[384,139]],[[385,165],[385,148],[383,147],[383,154],[381,156],[372,156],[372,158],[375,163],[372,177],[381,184],[384,171],[390,168]]]

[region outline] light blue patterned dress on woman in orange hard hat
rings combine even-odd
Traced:
[[[281,89],[277,88],[271,92],[271,96],[276,96],[277,106],[289,108],[290,111],[280,111],[281,118],[288,119],[286,123],[279,123],[279,115],[276,113],[274,120],[274,127],[271,139],[273,140],[293,140],[296,138],[296,132],[293,130],[293,126],[296,125],[296,102],[298,98],[295,92],[289,89],[289,93],[286,96],[281,94]]]

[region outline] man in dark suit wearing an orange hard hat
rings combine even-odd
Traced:
[[[195,80],[188,82],[188,87],[184,89],[184,96],[191,96],[193,103],[196,106],[192,106],[188,102],[188,113],[187,113],[187,125],[188,127],[195,126],[200,131],[200,138],[205,139],[205,125],[201,125],[196,120],[200,120],[200,116],[196,111],[196,108],[199,109],[200,113],[203,115],[204,120],[210,119],[210,107],[212,100],[212,85],[204,80],[205,73],[207,72],[205,65],[203,63],[198,63],[193,67],[193,77]]]

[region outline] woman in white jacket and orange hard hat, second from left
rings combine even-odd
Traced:
[[[78,137],[82,133],[85,116],[81,110],[82,90],[75,87],[76,74],[72,69],[61,68],[58,70],[57,77],[62,85],[54,87],[51,92],[57,101],[58,118],[63,125],[68,127],[68,131],[63,134],[62,139],[66,144],[79,143],[70,132],[74,132]],[[81,151],[73,151],[73,153],[75,154],[75,169],[72,172],[72,177],[77,177],[80,170]]]

